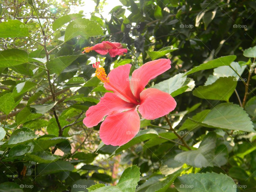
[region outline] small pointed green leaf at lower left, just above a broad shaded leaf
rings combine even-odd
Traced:
[[[34,151],[26,155],[28,161],[34,161],[37,163],[51,163],[59,159],[58,155],[53,155],[47,151]]]

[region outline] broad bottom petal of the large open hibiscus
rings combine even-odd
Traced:
[[[139,132],[140,120],[136,108],[106,117],[99,129],[99,137],[103,143],[121,146]]]

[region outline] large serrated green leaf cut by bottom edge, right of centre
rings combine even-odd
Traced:
[[[180,192],[236,192],[233,179],[217,173],[190,173],[175,180],[174,185]]]

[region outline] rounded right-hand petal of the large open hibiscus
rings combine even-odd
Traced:
[[[176,107],[174,98],[166,92],[155,88],[145,89],[140,94],[139,113],[145,119],[163,117]]]

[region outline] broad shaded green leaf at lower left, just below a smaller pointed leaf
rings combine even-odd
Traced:
[[[73,171],[74,166],[67,161],[56,161],[52,163],[39,163],[37,171],[39,175],[47,175],[51,173],[58,173],[61,171]]]

